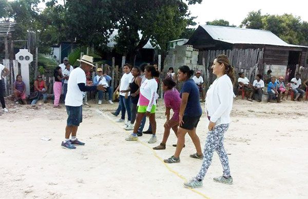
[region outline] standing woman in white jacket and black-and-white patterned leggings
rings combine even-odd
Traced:
[[[191,181],[184,183],[184,186],[189,188],[202,186],[203,178],[211,164],[214,151],[218,153],[223,168],[223,175],[214,177],[214,181],[229,185],[233,183],[223,140],[224,133],[229,127],[230,112],[233,104],[234,69],[230,66],[229,59],[226,55],[218,55],[214,59],[211,68],[213,69],[213,74],[215,74],[217,78],[209,87],[206,94],[205,106],[209,124],[204,147],[204,158],[197,176],[192,178]]]

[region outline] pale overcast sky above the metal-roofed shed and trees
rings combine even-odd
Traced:
[[[208,21],[215,19],[224,19],[231,25],[239,26],[248,12],[261,9],[262,14],[292,13],[300,16],[303,21],[308,22],[308,0],[286,1],[286,0],[203,0],[202,4],[189,6],[192,16],[198,16],[195,22],[204,25]]]

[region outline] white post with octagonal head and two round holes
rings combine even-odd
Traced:
[[[15,59],[21,64],[23,82],[26,84],[26,94],[30,95],[29,64],[33,61],[33,55],[27,49],[20,49],[15,54]]]

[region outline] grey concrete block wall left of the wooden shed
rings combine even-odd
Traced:
[[[191,45],[176,46],[171,49],[166,55],[164,62],[164,71],[166,72],[169,67],[174,67],[177,71],[180,66],[187,65],[191,69],[198,65],[199,50],[192,48]],[[173,56],[175,56],[174,66],[172,63]]]

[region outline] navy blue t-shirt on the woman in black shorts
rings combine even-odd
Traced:
[[[188,116],[200,116],[202,115],[202,108],[200,106],[200,96],[199,89],[195,84],[194,80],[188,79],[184,82],[180,97],[182,98],[182,93],[189,93],[187,105],[184,111],[184,115]]]

